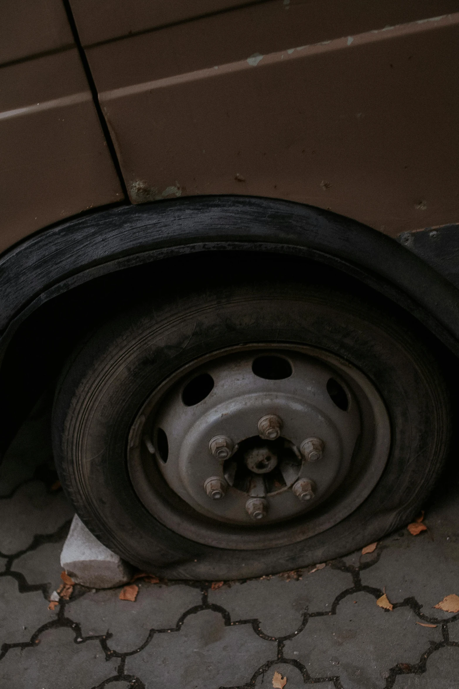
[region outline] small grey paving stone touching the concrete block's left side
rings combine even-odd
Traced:
[[[14,559],[12,570],[21,572],[28,584],[50,584],[50,591],[56,590],[61,579],[61,563],[59,557],[64,539],[56,543],[44,543],[33,551],[24,553]]]

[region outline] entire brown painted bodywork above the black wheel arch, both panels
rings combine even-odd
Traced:
[[[458,222],[457,0],[71,5],[133,203],[283,198],[390,236]],[[34,5],[39,39],[27,6],[8,2],[0,69],[0,251],[122,199],[61,3]]]

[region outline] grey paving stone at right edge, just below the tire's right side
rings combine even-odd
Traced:
[[[386,539],[382,546],[379,562],[361,573],[362,583],[385,586],[390,601],[414,596],[429,617],[451,617],[433,606],[450,593],[459,595],[459,542],[440,539],[440,533],[432,541],[426,532],[412,536],[406,531],[403,537]]]

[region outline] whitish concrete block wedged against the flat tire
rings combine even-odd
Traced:
[[[111,588],[126,584],[134,570],[105,548],[75,515],[61,553],[61,566],[76,584]]]

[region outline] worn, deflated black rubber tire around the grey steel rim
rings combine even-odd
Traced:
[[[112,551],[171,579],[277,573],[379,539],[414,516],[449,449],[447,386],[400,314],[321,285],[235,282],[125,308],[74,351],[56,391],[54,454],[78,515]],[[361,371],[387,410],[390,449],[369,495],[330,528],[275,547],[218,547],[186,537],[145,507],[129,475],[129,433],[145,401],[176,371],[257,343],[315,348]],[[194,511],[184,504],[180,514],[191,519]]]

